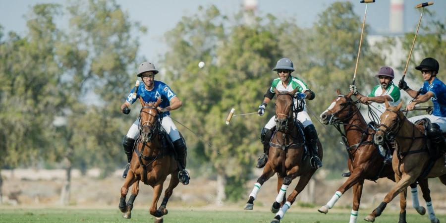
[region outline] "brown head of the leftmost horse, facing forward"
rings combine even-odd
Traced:
[[[159,113],[157,107],[161,103],[161,97],[153,103],[146,103],[140,97],[141,111],[139,111],[139,137],[144,143],[150,142],[159,130]]]

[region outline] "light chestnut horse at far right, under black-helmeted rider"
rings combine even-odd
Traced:
[[[401,203],[401,200],[405,200],[407,186],[417,180],[422,180],[418,178],[426,166],[428,166],[430,160],[428,150],[426,149],[427,138],[424,132],[420,131],[420,128],[410,122],[404,113],[400,111],[402,102],[397,107],[390,107],[386,100],[385,105],[387,109],[381,115],[380,128],[375,134],[375,143],[382,144],[386,138],[394,137],[396,149],[393,153],[392,167],[395,172],[396,184],[386,195],[384,201],[364,219],[368,222],[374,222],[375,218],[380,216],[384,211],[386,205],[399,193],[401,193],[400,214],[405,214],[406,206]],[[446,167],[444,167],[442,159],[438,159],[433,163],[432,169],[422,178],[434,177],[439,177],[440,181],[446,185]],[[432,223],[439,223],[440,221],[435,217],[430,197],[425,200],[429,219]]]

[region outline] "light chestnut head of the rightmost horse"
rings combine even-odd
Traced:
[[[386,111],[381,114],[380,128],[376,131],[374,136],[374,141],[377,145],[383,145],[386,139],[393,137],[393,134],[399,131],[405,118],[403,112],[399,111],[402,106],[402,101],[396,107],[389,106],[387,99],[384,104],[386,105]]]

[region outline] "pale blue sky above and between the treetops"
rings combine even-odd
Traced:
[[[193,15],[199,5],[215,4],[223,14],[233,15],[240,10],[243,0],[116,0],[121,8],[129,13],[132,21],[139,21],[148,28],[147,34],[140,36],[140,56],[157,63],[166,52],[163,35],[172,29],[182,16]],[[301,27],[311,27],[323,10],[336,0],[258,0],[258,15],[274,14],[279,19],[293,18]],[[354,11],[364,16],[365,4],[350,0]],[[67,0],[0,0],[0,24],[4,33],[14,31],[20,35],[26,32],[25,15],[37,3],[67,4]],[[311,3],[310,3],[311,2]],[[413,31],[420,16],[414,6],[422,1],[404,0],[404,31]],[[437,19],[446,20],[446,0],[436,0],[429,9],[436,12]],[[371,34],[389,34],[390,0],[376,0],[368,6],[366,23]],[[426,20],[423,16],[423,21]],[[63,21],[62,26],[66,26]]]

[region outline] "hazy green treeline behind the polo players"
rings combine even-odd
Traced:
[[[146,28],[130,21],[114,1],[85,3],[38,4],[27,18],[24,36],[0,31],[2,167],[65,160],[68,167],[101,167],[105,176],[124,164],[122,136],[139,110],[123,115],[118,108],[144,60],[138,33]],[[56,25],[62,17],[68,18],[68,29]],[[316,93],[308,107],[318,116],[335,98],[335,89],[345,92],[351,83],[361,22],[350,2],[333,3],[310,28],[271,14],[240,11],[228,17],[215,6],[200,6],[196,14],[184,16],[165,34],[169,48],[156,65],[162,70],[157,79],[183,101],[171,116],[206,141],[177,124],[187,140],[192,178],[216,175],[225,188],[220,198],[235,200],[245,192],[262,151],[260,129],[274,115],[274,105],[262,117],[234,117],[226,125],[229,110],[257,111],[276,78],[272,67],[289,57],[293,75]],[[446,64],[445,23],[435,22],[422,28],[414,55]],[[366,26],[365,36],[368,30]],[[402,37],[401,51],[408,52],[412,38],[413,33]],[[386,65],[383,51],[392,44],[389,39],[371,48],[364,40],[356,81],[360,89],[377,84],[373,74]],[[201,60],[206,62],[202,69],[197,66]],[[86,96],[92,93],[96,97],[90,101]],[[324,168],[346,168],[338,133],[312,119],[324,146]]]

